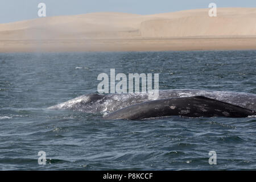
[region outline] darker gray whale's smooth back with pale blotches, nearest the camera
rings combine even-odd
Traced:
[[[105,119],[145,119],[180,115],[184,117],[232,117],[254,115],[255,111],[203,96],[147,101],[106,115]]]

